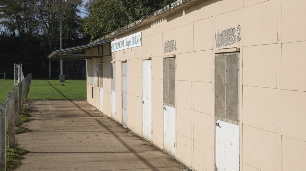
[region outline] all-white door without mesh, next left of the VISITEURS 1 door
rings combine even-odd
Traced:
[[[142,136],[151,141],[152,128],[151,60],[142,61]]]

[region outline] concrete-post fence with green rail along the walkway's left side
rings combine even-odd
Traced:
[[[16,148],[15,127],[19,127],[19,116],[22,114],[23,104],[30,90],[32,73],[29,73],[18,85],[13,87],[12,93],[6,94],[6,101],[0,103],[0,171],[5,171],[6,136],[5,125],[7,117],[7,132],[9,148]]]

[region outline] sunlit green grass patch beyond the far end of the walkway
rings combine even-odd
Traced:
[[[32,80],[28,99],[86,99],[86,80]]]

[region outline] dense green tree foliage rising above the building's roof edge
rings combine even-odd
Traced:
[[[90,0],[85,4],[89,16],[84,31],[91,40],[100,38],[127,24],[152,15],[176,0]]]

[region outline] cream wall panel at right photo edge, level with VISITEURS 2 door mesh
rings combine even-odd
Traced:
[[[282,44],[282,89],[306,91],[306,42]]]

